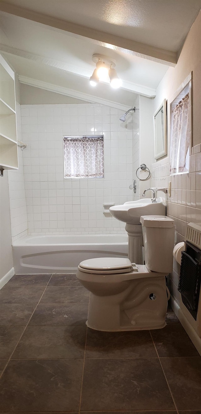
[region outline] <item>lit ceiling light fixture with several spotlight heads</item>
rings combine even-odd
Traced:
[[[91,86],[96,86],[99,80],[108,82],[109,79],[112,88],[117,89],[121,86],[122,82],[114,69],[116,67],[115,60],[98,53],[92,56],[92,60],[96,63],[96,69],[93,71],[93,75],[89,79]]]

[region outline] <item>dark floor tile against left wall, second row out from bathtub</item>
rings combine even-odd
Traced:
[[[0,303],[34,303],[37,304],[44,292],[44,287],[30,286],[7,287],[0,290]]]

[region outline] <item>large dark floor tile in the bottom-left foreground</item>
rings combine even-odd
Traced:
[[[78,411],[83,360],[12,360],[0,380],[0,412]]]

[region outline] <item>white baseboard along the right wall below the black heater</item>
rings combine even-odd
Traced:
[[[198,336],[198,334],[196,333],[196,331],[194,330],[192,325],[189,323],[189,320],[186,318],[186,316],[182,312],[182,310],[179,306],[179,302],[177,302],[172,297],[172,295],[170,295],[170,305],[171,305],[172,309],[174,310],[175,315],[177,315],[177,318],[181,322],[183,328],[185,329],[185,331],[189,335],[189,338],[193,342],[193,344],[196,347],[197,351],[201,355],[201,338]]]

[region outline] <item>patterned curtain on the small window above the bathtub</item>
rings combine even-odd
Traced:
[[[103,136],[64,137],[65,178],[104,177]]]

